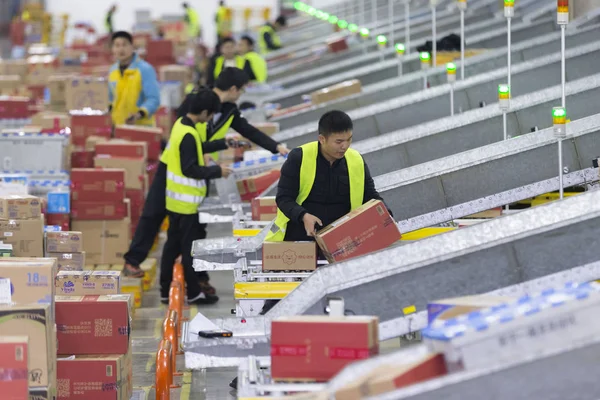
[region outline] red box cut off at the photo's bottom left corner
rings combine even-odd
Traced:
[[[0,391],[5,400],[28,400],[29,337],[0,336]]]

